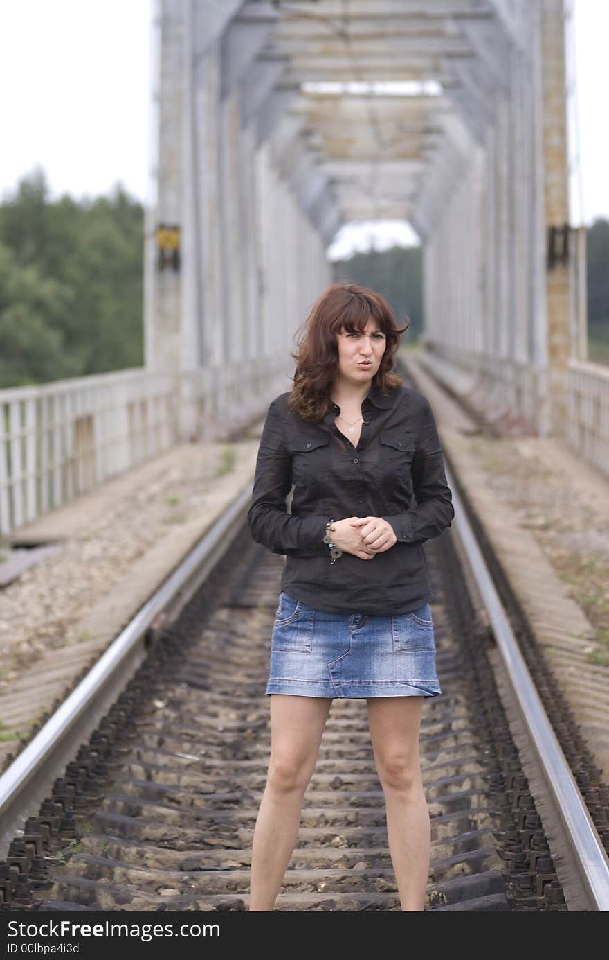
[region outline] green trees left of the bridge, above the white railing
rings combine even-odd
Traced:
[[[19,182],[0,204],[0,243],[20,278],[3,292],[0,387],[141,366],[143,230],[143,207],[120,184],[107,197],[50,201],[40,169]]]

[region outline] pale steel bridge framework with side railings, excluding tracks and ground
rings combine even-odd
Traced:
[[[0,533],[288,389],[341,225],[406,220],[421,360],[609,470],[565,0],[155,0],[145,363],[0,392]]]

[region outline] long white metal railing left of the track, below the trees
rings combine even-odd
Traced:
[[[290,386],[283,351],[181,373],[131,369],[0,390],[0,535],[173,444],[225,436]]]

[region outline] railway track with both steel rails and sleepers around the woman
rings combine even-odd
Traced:
[[[0,777],[1,910],[247,909],[283,563],[251,541],[247,504]],[[426,910],[609,909],[609,790],[466,506],[426,545],[443,690],[420,736]],[[332,705],[275,909],[400,909],[363,700]]]

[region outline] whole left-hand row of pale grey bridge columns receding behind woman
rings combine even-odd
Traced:
[[[145,364],[176,373],[185,437],[290,389],[293,332],[330,281],[329,238],[266,140],[277,123],[261,122],[283,65],[252,63],[269,26],[235,28],[242,6],[153,12]]]

